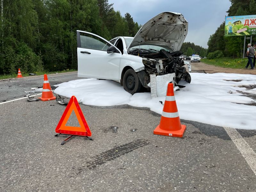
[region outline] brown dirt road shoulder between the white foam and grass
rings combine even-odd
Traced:
[[[214,65],[208,65],[204,62],[199,63],[191,63],[191,72],[199,72],[202,73],[203,70],[205,73],[238,73],[238,74],[251,74],[256,75],[256,68],[254,69],[231,69],[231,68],[223,68],[217,67]]]

